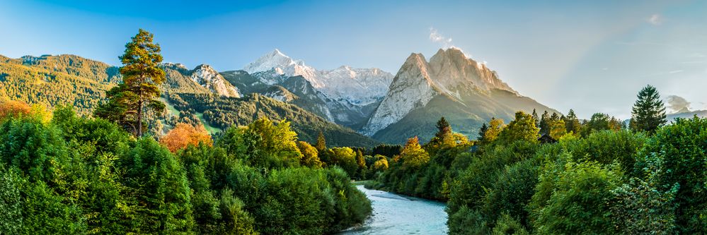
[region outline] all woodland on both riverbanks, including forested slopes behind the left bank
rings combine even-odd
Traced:
[[[95,83],[0,58],[0,234],[335,234],[374,214],[355,181],[447,203],[449,234],[707,234],[707,119],[668,120],[651,85],[628,121],[519,111],[472,137],[440,116],[380,144],[258,94],[170,92],[153,37]]]

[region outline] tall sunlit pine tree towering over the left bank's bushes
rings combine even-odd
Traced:
[[[145,109],[161,112],[165,105],[158,99],[159,85],[166,80],[159,44],[152,41],[153,34],[140,29],[125,44],[125,54],[120,56],[122,84],[106,93],[108,103],[96,109],[96,116],[130,127],[135,136],[142,136]]]

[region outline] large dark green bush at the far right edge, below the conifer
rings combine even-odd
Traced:
[[[659,192],[679,186],[675,214],[677,229],[683,234],[707,233],[706,150],[707,119],[678,119],[655,133],[641,152],[645,159],[637,163],[636,170],[645,172],[651,169],[653,158],[660,159],[660,170],[654,176]]]

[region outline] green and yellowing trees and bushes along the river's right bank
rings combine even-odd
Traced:
[[[707,119],[667,123],[650,85],[632,114],[518,112],[478,140],[442,118],[367,187],[447,201],[449,234],[707,233]]]

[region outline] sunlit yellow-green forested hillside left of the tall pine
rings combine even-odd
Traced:
[[[117,67],[73,55],[0,57],[0,95],[90,114],[120,80]]]

